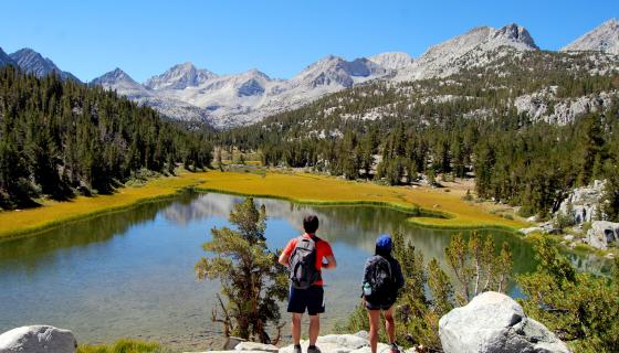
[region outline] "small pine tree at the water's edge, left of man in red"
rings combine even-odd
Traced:
[[[203,244],[212,256],[196,264],[197,277],[221,281],[227,302],[220,298],[221,312],[213,309],[213,321],[223,324],[227,336],[271,343],[267,328],[270,323],[282,328],[279,301],[287,296],[287,277],[266,247],[265,207],[259,210],[252,199],[245,199],[234,205],[229,221],[235,229],[213,228],[212,240]]]

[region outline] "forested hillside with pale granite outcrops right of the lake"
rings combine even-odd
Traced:
[[[220,133],[263,162],[389,184],[475,178],[476,194],[552,211],[619,173],[619,60],[500,46],[484,65],[376,82]]]

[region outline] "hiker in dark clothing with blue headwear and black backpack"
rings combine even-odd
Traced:
[[[380,311],[385,313],[385,327],[389,335],[391,353],[399,353],[396,343],[396,323],[394,321],[394,303],[398,290],[405,286],[400,264],[391,256],[394,243],[388,235],[376,239],[375,255],[367,259],[364,269],[363,298],[369,317],[369,341],[371,353],[378,345]]]

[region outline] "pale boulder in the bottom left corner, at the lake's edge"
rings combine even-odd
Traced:
[[[77,341],[69,330],[21,327],[0,334],[0,353],[74,353]]]

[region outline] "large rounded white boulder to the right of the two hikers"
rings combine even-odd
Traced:
[[[484,292],[439,321],[445,353],[564,353],[564,342],[529,319],[512,298]]]

